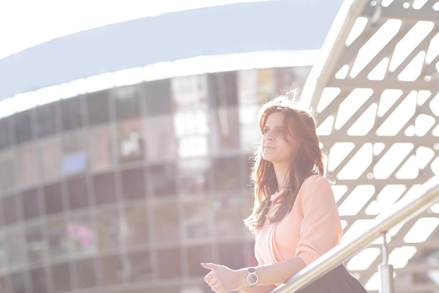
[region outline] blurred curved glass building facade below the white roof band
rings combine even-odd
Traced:
[[[203,73],[0,119],[0,292],[210,292],[255,263],[243,219],[264,101],[310,66]]]

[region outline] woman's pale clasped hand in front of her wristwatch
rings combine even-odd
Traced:
[[[235,291],[238,287],[245,285],[245,271],[232,270],[227,266],[221,266],[216,263],[201,263],[201,266],[210,270],[205,275],[204,281],[208,283],[210,289],[215,293]]]

